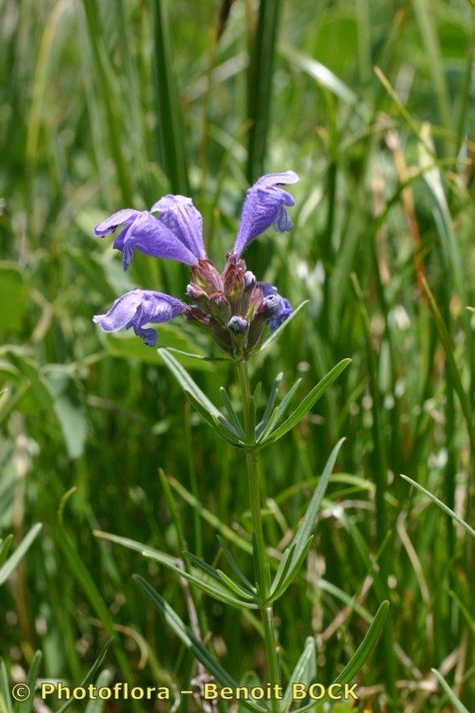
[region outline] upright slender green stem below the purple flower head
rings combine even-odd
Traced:
[[[252,432],[252,419],[250,416],[250,383],[248,365],[246,362],[237,364],[239,384],[242,395],[242,413],[244,416],[244,430],[246,431],[246,466],[248,471],[248,484],[250,495],[250,514],[252,529],[254,530],[254,570],[256,573],[256,586],[261,602],[266,602],[270,589],[270,570],[266,564],[266,547],[264,545],[264,532],[260,514],[260,493],[258,481],[258,452],[253,447],[254,433]],[[279,662],[277,660],[276,639],[274,629],[274,611],[272,604],[265,604],[260,608],[264,626],[264,641],[266,644],[266,663],[269,683],[272,690],[280,684]],[[272,710],[278,713],[279,703],[273,696],[271,699]]]

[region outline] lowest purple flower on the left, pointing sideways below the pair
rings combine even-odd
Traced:
[[[153,347],[158,340],[157,332],[154,329],[143,329],[143,324],[168,322],[181,315],[185,309],[186,305],[181,299],[163,292],[132,290],[116,299],[105,315],[95,315],[94,322],[104,332],[119,332],[123,327],[133,327],[137,337],[141,337],[147,346]]]

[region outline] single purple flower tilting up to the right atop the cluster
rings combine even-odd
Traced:
[[[280,233],[291,230],[291,218],[285,209],[293,206],[290,193],[279,188],[282,184],[296,184],[299,176],[293,171],[270,173],[258,178],[249,189],[242,206],[241,224],[234,242],[234,252],[241,256],[250,242],[274,225]]]

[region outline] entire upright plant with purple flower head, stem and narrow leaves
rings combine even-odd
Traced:
[[[189,265],[192,274],[192,281],[186,288],[189,303],[163,292],[135,289],[119,297],[106,314],[94,316],[94,322],[99,324],[102,330],[116,332],[122,328],[133,328],[135,334],[152,347],[156,344],[158,336],[152,327],[145,325],[160,324],[181,315],[208,332],[225,353],[225,358],[236,365],[241,390],[242,418],[225,389],[221,389],[225,405],[224,414],[201,391],[192,376],[177,361],[176,356],[172,354],[172,351],[177,350],[160,348],[162,359],[184,389],[192,406],[217,431],[220,438],[224,438],[233,447],[240,448],[245,453],[255,581],[250,581],[242,571],[222,539],[219,540],[220,547],[232,574],[211,567],[192,553],[184,553],[186,561],[184,565],[181,561],[174,561],[166,553],[160,553],[130,539],[107,533],[98,534],[121,545],[139,549],[144,555],[159,561],[160,564],[175,571],[181,578],[220,602],[241,610],[260,611],[268,685],[269,690],[274,693],[268,702],[250,698],[242,701],[242,705],[254,711],[272,710],[273,713],[286,713],[291,709],[293,683],[302,681],[310,683],[315,677],[315,641],[309,637],[291,674],[285,693],[283,692],[282,652],[275,627],[274,602],[291,586],[305,561],[312,544],[316,515],[343,439],[333,448],[314,495],[308,503],[307,512],[300,520],[293,540],[282,553],[280,561],[275,561],[270,556],[264,540],[258,456],[264,447],[282,438],[299,423],[350,361],[343,359],[335,365],[297,406],[293,406],[291,414],[288,412],[295,400],[299,380],[277,404],[279,385],[283,377],[282,373],[278,374],[266,406],[262,413],[259,412],[260,384],[251,393],[248,361],[251,356],[266,348],[271,341],[280,336],[287,324],[290,324],[298,314],[302,305],[292,311],[289,300],[282,297],[274,285],[259,282],[247,269],[242,253],[250,242],[271,225],[280,232],[291,230],[291,218],[287,208],[293,205],[294,200],[281,186],[295,184],[298,180],[297,174],[286,171],[262,176],[250,188],[243,204],[241,222],[233,249],[226,255],[222,273],[219,273],[207,256],[202,237],[201,215],[193,206],[191,199],[184,196],[165,196],[152,206],[150,212],[135,209],[119,210],[96,225],[94,229],[96,235],[104,236],[123,226],[115,238],[114,247],[122,252],[122,262],[126,270],[134,258],[135,250],[139,250],[146,255],[174,259]],[[159,213],[158,217],[154,215],[156,212]],[[267,337],[266,332],[270,332]],[[196,356],[196,358],[202,357]],[[201,642],[199,631],[195,629],[191,631],[186,627],[168,602],[165,602],[143,578],[136,576],[136,581],[168,624],[174,628],[176,635],[192,651],[198,661],[201,674],[196,679],[197,682],[202,684],[203,676],[210,675],[219,684],[235,687],[237,684],[232,676],[221,667]],[[361,668],[381,632],[387,607],[388,602],[381,604],[364,642],[334,683],[347,683]],[[310,701],[299,711],[302,713],[314,705]]]

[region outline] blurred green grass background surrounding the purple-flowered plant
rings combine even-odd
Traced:
[[[353,362],[262,463],[266,538],[282,550],[347,438],[305,572],[277,606],[284,670],[314,635],[330,683],[389,598],[359,709],[454,710],[430,668],[470,708],[469,536],[399,473],[470,519],[472,7],[1,0],[0,533],[18,545],[43,523],[0,589],[13,679],[40,649],[40,676],[78,684],[114,630],[104,666],[115,680],[179,687],[196,674],[131,575],[188,620],[183,587],[93,531],[178,556],[179,522],[209,562],[227,532],[250,571],[242,455],[192,413],[155,349],[92,323],[134,286],[181,297],[187,270],[137,255],[124,274],[92,230],[184,193],[222,266],[247,187],[292,169],[291,234],[269,231],[246,259],[309,304],[252,380],[266,395],[283,371],[283,391],[301,377],[303,395]],[[212,350],[179,321],[160,343]],[[184,364],[216,403],[220,385],[233,392],[226,365]],[[217,658],[233,676],[262,675],[256,621],[193,595]]]

